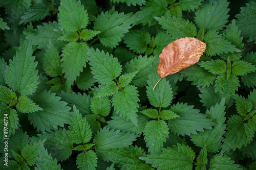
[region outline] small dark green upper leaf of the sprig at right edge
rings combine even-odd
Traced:
[[[240,116],[246,116],[246,113],[250,112],[253,108],[251,101],[241,95],[234,95],[234,100],[236,100],[236,108]]]

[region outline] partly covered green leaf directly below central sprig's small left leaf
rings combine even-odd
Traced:
[[[94,114],[108,116],[110,114],[111,104],[108,97],[95,98],[91,101],[91,110]]]

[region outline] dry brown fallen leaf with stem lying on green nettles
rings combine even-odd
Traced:
[[[162,79],[190,65],[196,64],[204,53],[205,48],[206,43],[194,37],[180,38],[169,43],[169,45],[163,48],[162,53],[159,55],[161,60],[158,64],[157,73]],[[159,79],[159,81],[161,79]]]

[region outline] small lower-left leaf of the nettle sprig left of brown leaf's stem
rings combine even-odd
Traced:
[[[109,83],[106,83],[102,88],[100,88],[96,97],[101,98],[104,96],[114,95],[117,92],[118,92],[118,87],[117,87],[116,83],[111,81]]]

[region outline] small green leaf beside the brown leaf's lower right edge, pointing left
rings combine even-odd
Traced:
[[[223,60],[202,61],[199,65],[215,75],[223,74],[227,68],[227,64]]]

